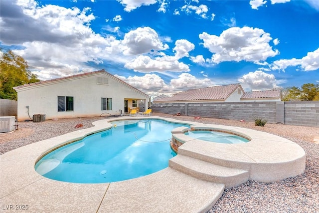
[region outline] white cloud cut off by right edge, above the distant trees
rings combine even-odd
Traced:
[[[283,70],[289,66],[298,66],[302,71],[314,71],[319,69],[319,48],[313,52],[308,52],[306,56],[301,59],[280,59],[274,61],[271,65],[273,70]]]

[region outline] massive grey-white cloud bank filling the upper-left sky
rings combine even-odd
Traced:
[[[1,6],[8,11],[20,11],[14,15],[22,17],[20,20],[23,23],[13,24],[12,19],[1,17],[1,30],[5,29],[5,33],[1,31],[1,42],[5,45],[23,46],[15,52],[28,61],[30,70],[36,72],[41,80],[93,71],[89,62],[123,64],[145,73],[189,71],[187,64],[178,61],[182,57],[189,57],[188,52],[194,49],[194,45],[187,40],[177,40],[172,49],[174,55],[168,56],[161,52],[168,49],[168,45],[161,40],[171,42],[171,38],[159,37],[150,27],[131,30],[120,40],[111,34],[101,36],[89,27],[90,21],[95,18],[92,13],[87,14],[89,8],[81,11],[76,7],[38,6],[35,1],[30,0],[21,1],[25,12],[22,13],[17,9],[21,6],[5,2],[7,4]],[[14,6],[16,7],[11,8]],[[121,34],[118,26],[106,25],[103,29]],[[17,34],[16,31],[19,30],[24,33]],[[48,75],[50,72],[52,76]]]

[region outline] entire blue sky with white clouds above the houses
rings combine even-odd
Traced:
[[[105,69],[157,96],[319,83],[319,0],[1,0],[0,47],[39,79]]]

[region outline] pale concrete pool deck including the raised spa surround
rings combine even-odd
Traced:
[[[187,139],[177,155],[187,160],[170,162],[175,163],[175,169],[168,167],[145,177],[115,183],[65,183],[44,178],[34,170],[37,159],[52,148],[110,128],[112,125],[106,121],[145,118],[229,129],[250,137],[252,141],[243,145],[225,146]],[[265,178],[265,182],[297,176],[305,170],[305,152],[299,145],[255,130],[182,122],[156,116],[117,117],[93,124],[95,127],[43,140],[0,155],[0,210],[16,211],[15,208],[26,208],[27,205],[30,212],[206,212],[220,198],[224,188],[230,186],[206,180],[205,173],[211,172],[211,168],[206,167],[207,162],[219,164],[215,166],[226,162],[227,165],[223,167],[229,166],[231,169],[236,165],[245,165],[245,168],[239,169],[248,171],[248,179]],[[188,164],[189,160],[194,163]],[[185,164],[182,165],[183,163]],[[194,171],[196,168],[191,168],[192,165],[205,165],[202,167],[208,169]],[[250,172],[251,169],[253,173]],[[272,175],[269,171],[277,172]],[[245,180],[244,178],[241,182]]]

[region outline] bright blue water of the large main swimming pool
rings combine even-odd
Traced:
[[[158,119],[111,122],[112,129],[85,137],[44,156],[40,175],[72,183],[109,183],[142,177],[168,166],[171,130],[186,126]]]

